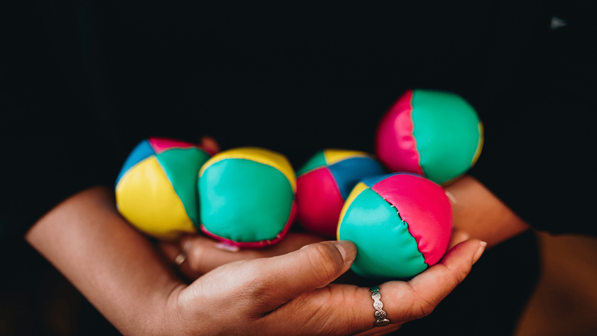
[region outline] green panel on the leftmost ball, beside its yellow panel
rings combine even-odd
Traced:
[[[159,165],[164,169],[168,180],[179,196],[184,210],[193,224],[198,224],[197,184],[199,169],[210,159],[207,153],[197,148],[169,149],[156,155]]]

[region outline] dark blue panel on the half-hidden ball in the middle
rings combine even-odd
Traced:
[[[328,166],[338,183],[340,195],[346,200],[350,190],[362,178],[383,174],[383,167],[379,162],[370,158],[349,158]]]

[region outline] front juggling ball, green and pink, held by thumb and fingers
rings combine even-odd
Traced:
[[[410,278],[441,260],[451,231],[444,189],[404,172],[359,182],[342,208],[337,238],[356,244],[356,274]]]

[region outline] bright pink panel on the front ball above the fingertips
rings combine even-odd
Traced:
[[[388,177],[371,189],[395,206],[408,223],[425,263],[436,264],[448,249],[452,233],[452,206],[444,189],[410,174]]]

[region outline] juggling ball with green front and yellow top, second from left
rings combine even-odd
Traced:
[[[201,231],[241,248],[280,241],[296,214],[296,177],[284,155],[241,147],[215,155],[199,171]]]

